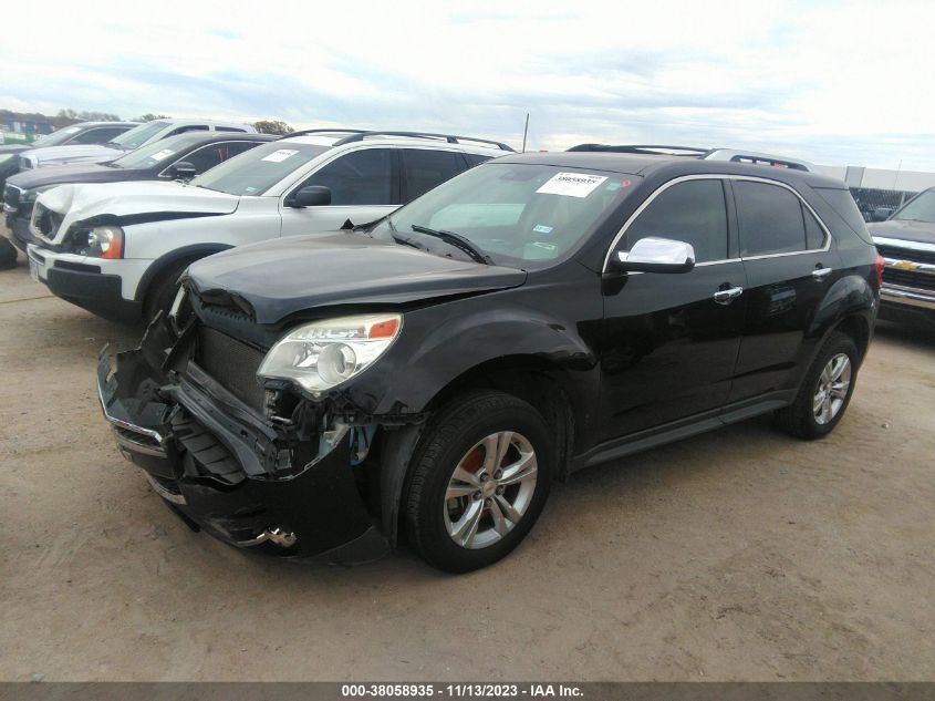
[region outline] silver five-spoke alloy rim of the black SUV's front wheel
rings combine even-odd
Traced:
[[[445,491],[448,535],[470,550],[498,543],[522,520],[538,472],[536,451],[521,433],[500,431],[478,441],[458,461]]]

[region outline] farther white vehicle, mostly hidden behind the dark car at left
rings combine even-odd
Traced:
[[[237,132],[256,133],[252,126],[235,122],[212,122],[207,120],[154,120],[139,124],[101,144],[64,144],[61,146],[40,146],[20,154],[20,171],[41,168],[50,165],[71,163],[106,163],[120,158],[123,153],[139,148],[146,144],[184,134],[185,132]],[[54,135],[54,134],[53,134]]]

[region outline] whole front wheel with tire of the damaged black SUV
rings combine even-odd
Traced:
[[[496,446],[489,462],[488,445]],[[495,465],[498,451],[502,457]],[[404,509],[409,544],[444,571],[496,563],[520,544],[542,512],[553,461],[549,426],[527,402],[492,391],[455,400],[428,425],[414,455]],[[470,478],[458,480],[458,467]],[[449,489],[463,495],[446,498]]]

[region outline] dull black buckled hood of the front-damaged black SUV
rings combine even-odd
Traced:
[[[315,307],[402,305],[518,287],[527,274],[335,233],[233,248],[194,262],[188,276],[206,299],[227,292],[247,301],[258,323],[276,323]]]

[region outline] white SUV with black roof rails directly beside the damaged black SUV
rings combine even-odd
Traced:
[[[117,321],[172,305],[179,275],[211,254],[378,219],[506,144],[413,132],[310,130],[262,144],[187,184],[62,185],[37,199],[32,276]]]

